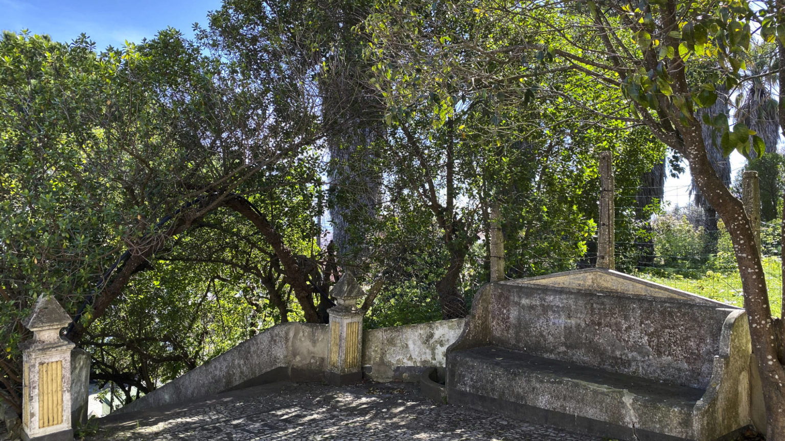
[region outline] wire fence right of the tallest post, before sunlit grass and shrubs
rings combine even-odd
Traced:
[[[616,188],[615,261],[619,271],[666,286],[743,306],[741,278],[721,218],[689,186],[658,189],[668,195],[647,205],[647,189]],[[654,190],[654,189],[652,189]],[[664,190],[664,191],[663,191]],[[761,223],[761,256],[772,312],[780,315],[780,220]]]

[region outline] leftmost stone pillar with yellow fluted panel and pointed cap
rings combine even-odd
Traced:
[[[22,439],[72,441],[71,349],[75,344],[60,337],[71,317],[50,296],[38,297],[24,322],[33,331],[22,352]]]

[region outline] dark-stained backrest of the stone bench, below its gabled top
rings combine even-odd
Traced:
[[[694,388],[709,384],[722,325],[732,312],[644,296],[496,288],[491,344]]]

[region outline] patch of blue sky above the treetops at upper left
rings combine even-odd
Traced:
[[[206,25],[207,12],[221,0],[139,0],[137,2],[0,0],[0,29],[49,34],[53,40],[70,42],[84,32],[97,49],[139,42],[159,30],[176,27],[193,35],[192,24]]]

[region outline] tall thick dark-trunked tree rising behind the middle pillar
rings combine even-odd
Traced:
[[[301,69],[312,71],[312,86],[321,107],[338,112],[324,122],[327,152],[327,205],[332,239],[342,264],[362,260],[363,219],[374,217],[381,173],[374,166],[374,142],[383,142],[383,109],[367,87],[368,66],[362,59],[362,36],[356,24],[372,2],[255,2],[228,0],[211,13],[211,27],[222,44],[242,57],[249,72],[267,69],[268,57],[287,53]],[[259,38],[259,35],[276,38]]]

